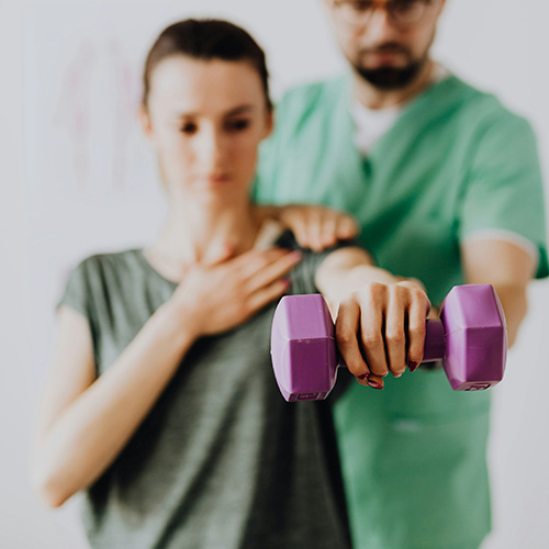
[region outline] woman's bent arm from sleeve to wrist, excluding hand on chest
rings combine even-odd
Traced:
[[[169,302],[96,379],[88,321],[59,307],[52,371],[37,422],[31,481],[51,506],[93,483],[127,444],[194,336]]]

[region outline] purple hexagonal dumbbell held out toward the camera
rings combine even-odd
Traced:
[[[457,285],[440,318],[426,323],[424,362],[442,360],[456,391],[489,389],[503,379],[507,358],[505,316],[490,284]],[[272,367],[284,399],[325,399],[338,363],[334,322],[320,294],[287,295],[272,321]]]

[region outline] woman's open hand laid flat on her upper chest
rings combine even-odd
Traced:
[[[283,277],[300,259],[301,253],[281,248],[234,258],[227,253],[214,264],[192,267],[171,303],[188,316],[193,337],[225,332],[282,296],[290,284]]]

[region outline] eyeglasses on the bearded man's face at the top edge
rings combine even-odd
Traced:
[[[411,26],[418,23],[435,0],[334,0],[334,7],[341,16],[356,25],[366,25],[378,8],[386,10],[390,21],[395,26]]]

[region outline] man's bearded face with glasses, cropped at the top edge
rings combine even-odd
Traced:
[[[378,89],[407,86],[425,65],[445,0],[325,0],[339,47]]]

